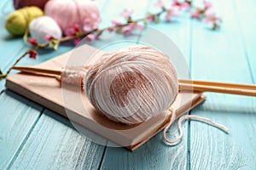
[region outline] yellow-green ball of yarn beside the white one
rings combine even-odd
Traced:
[[[43,15],[43,11],[38,7],[20,8],[9,14],[5,21],[5,28],[15,36],[23,36],[28,29],[29,23]]]

